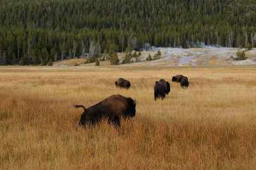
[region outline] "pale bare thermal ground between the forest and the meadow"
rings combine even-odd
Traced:
[[[161,58],[147,61],[148,54],[154,59],[156,50],[141,52],[140,62],[132,62],[124,66],[196,66],[196,65],[256,65],[256,49],[246,51],[248,59],[243,61],[234,61],[230,56],[236,57],[237,48],[161,48]],[[120,63],[124,59],[124,53],[118,53]],[[84,64],[85,59],[66,59],[54,63],[54,66],[74,66],[74,65],[94,65],[94,63]],[[132,59],[135,61],[135,59]],[[100,65],[110,65],[109,61],[100,61]]]

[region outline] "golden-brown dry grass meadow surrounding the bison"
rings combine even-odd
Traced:
[[[131,88],[116,88],[119,77]],[[161,78],[171,91],[154,101]],[[136,98],[134,118],[78,126],[75,104],[113,94]],[[255,100],[248,65],[1,66],[0,169],[255,169]]]

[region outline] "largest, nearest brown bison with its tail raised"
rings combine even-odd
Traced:
[[[105,98],[98,104],[86,109],[83,105],[75,105],[75,107],[83,107],[84,112],[81,115],[79,125],[85,123],[95,124],[102,118],[108,119],[114,125],[120,125],[120,118],[129,118],[135,116],[136,99],[126,98],[121,95],[112,95]]]

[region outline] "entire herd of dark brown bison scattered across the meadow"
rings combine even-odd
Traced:
[[[180,82],[182,88],[188,87],[188,77],[184,75],[176,75],[172,77],[172,82]],[[131,83],[125,79],[119,78],[116,82],[116,87],[129,89]],[[160,98],[163,100],[165,95],[170,92],[170,83],[164,79],[156,81],[154,86],[154,99]],[[105,98],[98,104],[92,105],[86,109],[83,105],[75,105],[75,107],[83,107],[84,112],[81,114],[79,125],[86,123],[95,124],[106,118],[109,123],[120,126],[120,118],[131,118],[135,116],[136,99],[123,97],[122,95],[112,95]]]

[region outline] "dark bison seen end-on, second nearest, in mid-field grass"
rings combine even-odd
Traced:
[[[161,96],[162,100],[164,99],[165,95],[170,92],[170,83],[161,79],[159,82],[156,81],[154,87],[154,97],[155,100],[157,97]]]

